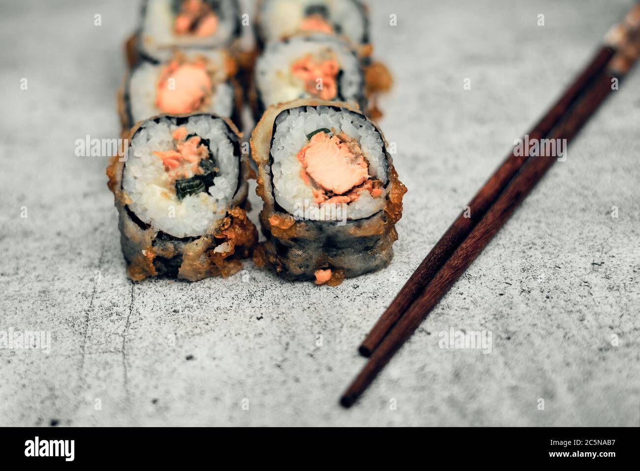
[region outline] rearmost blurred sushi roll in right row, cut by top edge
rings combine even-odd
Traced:
[[[331,33],[369,49],[369,19],[359,0],[261,0],[256,37],[260,45],[298,33]]]

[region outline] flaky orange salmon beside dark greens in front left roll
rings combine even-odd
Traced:
[[[175,150],[154,152],[162,160],[164,171],[171,183],[177,180],[203,175],[205,169],[200,165],[203,159],[209,158],[209,147],[201,144],[199,136],[187,138],[187,128],[181,126],[173,131]]]

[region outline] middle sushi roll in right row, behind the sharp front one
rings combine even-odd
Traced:
[[[366,108],[360,60],[331,35],[299,35],[270,42],[255,67],[253,109],[257,119],[272,104],[297,98],[354,101]]]

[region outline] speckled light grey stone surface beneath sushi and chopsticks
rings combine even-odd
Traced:
[[[3,2],[0,331],[49,331],[51,352],[0,349],[1,426],[640,424],[640,70],[362,401],[338,405],[358,342],[631,4],[370,3],[397,84],[380,124],[409,192],[392,265],[332,289],[249,261],[229,279],[131,283],[106,158],[74,149],[118,133],[138,6]],[[451,327],[491,331],[492,352],[440,349]]]

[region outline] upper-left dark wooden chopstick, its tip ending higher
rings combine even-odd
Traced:
[[[636,21],[635,18],[638,15],[640,15],[640,6],[632,8],[627,14],[625,22],[630,23]],[[621,25],[624,24],[623,22]],[[612,29],[612,31],[616,31],[616,28]],[[573,81],[572,85],[566,89],[560,99],[548,110],[545,116],[534,126],[532,131],[529,132],[530,140],[545,138],[572,104],[580,97],[589,83],[604,70],[614,54],[614,48],[612,46],[616,45],[616,43],[622,39],[620,35],[612,36],[613,37],[607,41],[609,44],[605,44],[600,48],[600,51],[595,54],[591,62],[589,62],[575,81]],[[482,219],[488,208],[495,202],[528,158],[528,153],[522,156],[516,155],[514,148],[512,153],[502,162],[502,165],[500,165],[491,178],[488,179],[474,198],[467,204],[468,210],[465,209],[460,213],[458,219],[451,224],[447,232],[438,240],[433,246],[433,249],[431,249],[429,254],[422,260],[419,267],[413,272],[412,276],[396,295],[394,301],[392,301],[365,337],[358,348],[360,354],[367,357],[371,356],[371,353],[380,345],[380,342],[382,342],[383,338],[385,338],[390,329],[396,324],[397,320],[402,317],[424,287],[429,284],[438,270],[442,268],[442,265],[449,260],[454,250],[465,240],[465,237],[467,237],[470,231],[477,225],[479,220]],[[467,213],[468,216],[466,216]]]

